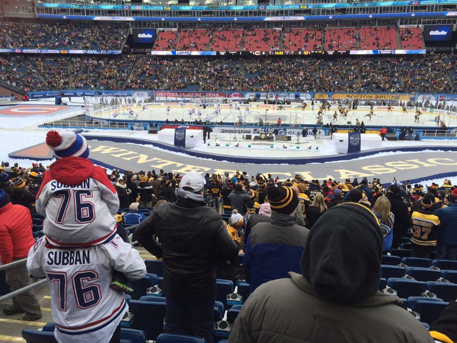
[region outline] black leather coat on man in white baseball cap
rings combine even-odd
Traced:
[[[170,299],[214,299],[214,266],[238,254],[221,216],[202,196],[176,190],[176,203],[154,210],[137,227],[134,239],[163,258],[163,289]],[[158,242],[152,236],[158,237]]]

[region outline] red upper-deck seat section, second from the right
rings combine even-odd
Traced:
[[[398,49],[397,34],[393,27],[363,27],[360,32],[360,50]]]

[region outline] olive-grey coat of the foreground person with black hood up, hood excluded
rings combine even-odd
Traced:
[[[358,303],[335,304],[316,294],[302,275],[290,275],[249,295],[229,343],[434,342],[421,322],[397,305],[398,298],[378,291]]]

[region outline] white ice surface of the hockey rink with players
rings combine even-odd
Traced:
[[[86,113],[95,118],[116,119],[116,120],[138,120],[138,121],[164,121],[170,122],[177,119],[184,120],[186,123],[201,119],[211,124],[240,123],[256,125],[276,125],[281,118],[282,126],[295,126],[305,124],[309,126],[316,125],[318,106],[314,109],[308,104],[306,109],[301,108],[301,104],[291,105],[264,105],[263,103],[250,103],[249,105],[238,105],[240,110],[235,110],[228,104],[222,104],[220,112],[217,113],[216,104],[207,104],[203,108],[201,104],[195,105],[184,103],[149,103],[149,104],[131,104],[106,106],[104,108],[94,109],[86,105]],[[457,126],[456,113],[445,110],[432,108],[419,108],[422,112],[419,123],[415,123],[415,108],[408,107],[404,113],[399,106],[392,106],[391,111],[387,106],[374,106],[374,115],[369,118],[367,114],[370,111],[369,106],[359,106],[357,109],[350,109],[347,117],[339,114],[337,105],[331,105],[330,110],[323,112],[323,124],[334,125],[356,125],[356,121],[364,122],[366,126],[438,126],[436,119],[443,121],[446,126]],[[337,120],[334,120],[334,112],[337,112]],[[130,113],[129,113],[130,112]],[[201,112],[201,114],[200,114]],[[241,118],[240,118],[241,117]]]

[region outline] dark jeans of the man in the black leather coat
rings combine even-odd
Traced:
[[[207,343],[213,343],[214,300],[177,301],[167,298],[165,331],[203,337]]]

